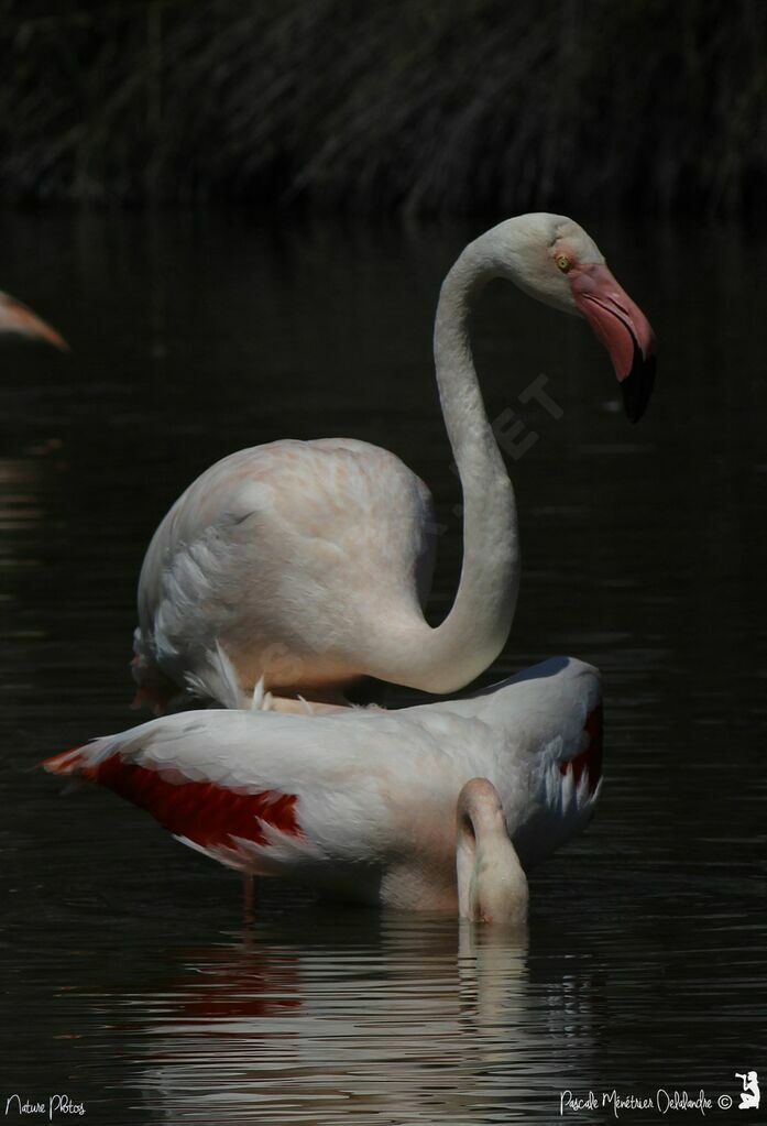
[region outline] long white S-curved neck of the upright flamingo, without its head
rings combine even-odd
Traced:
[[[412,617],[377,653],[373,676],[449,692],[498,656],[514,618],[519,543],[514,490],[488,421],[469,337],[471,307],[499,271],[487,236],[471,243],[443,283],[434,354],[443,415],[463,489],[463,565],[451,613],[437,627]]]

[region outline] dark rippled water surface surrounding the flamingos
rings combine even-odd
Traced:
[[[570,653],[607,704],[601,805],[534,874],[527,944],[276,884],[246,922],[233,874],[33,769],[136,722],[143,551],[230,450],[341,435],[401,455],[439,503],[445,611],[460,492],[430,325],[480,225],[0,216],[0,285],[73,348],[1,356],[0,1115],[64,1092],[86,1117],[54,1120],[471,1126],[560,1120],[563,1089],[703,1088],[708,1120],[767,1121],[764,232],[587,224],[661,340],[637,427],[582,323],[502,285],[476,316],[491,414],[539,436],[509,463],[524,579],[484,680]],[[518,402],[539,373],[560,419]],[[753,1070],[764,1105],[741,1114]],[[43,1117],[11,1101],[6,1120]]]

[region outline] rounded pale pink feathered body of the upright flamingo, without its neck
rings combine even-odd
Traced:
[[[146,553],[140,687],[204,681],[216,643],[247,690],[265,673],[293,691],[349,683],[364,672],[355,638],[372,622],[392,606],[420,614],[432,527],[422,482],[366,443],[288,440],[225,457],[173,504]]]

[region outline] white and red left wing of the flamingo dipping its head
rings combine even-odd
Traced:
[[[419,802],[438,797],[429,778],[440,754],[418,724],[409,731],[386,715],[376,720],[179,713],[43,765],[113,789],[230,867],[295,875],[306,866],[376,865],[409,847]],[[448,815],[451,796],[454,804],[453,787]]]

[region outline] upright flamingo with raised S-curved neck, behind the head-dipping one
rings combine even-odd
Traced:
[[[203,473],[154,534],[139,583],[139,701],[161,712],[191,681],[230,704],[211,674],[218,649],[241,690],[235,704],[261,678],[277,697],[313,700],[338,700],[364,676],[446,694],[494,660],[517,598],[517,515],[467,324],[496,277],[585,316],[610,354],[628,417],[640,418],[652,330],[594,241],[562,215],[501,223],[458,257],[436,316],[437,384],[464,500],[463,566],[445,620],[432,628],[422,613],[431,497],[398,457],[351,438],[257,446]]]

